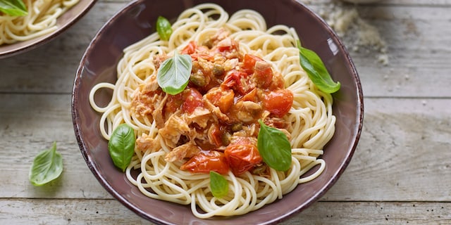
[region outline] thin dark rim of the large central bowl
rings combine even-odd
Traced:
[[[116,200],[118,200],[122,205],[127,207],[132,212],[135,212],[135,214],[139,215],[140,217],[147,219],[149,221],[152,221],[156,224],[171,224],[170,222],[160,219],[158,217],[153,217],[149,213],[140,209],[140,207],[136,207],[135,205],[130,203],[130,201],[128,201],[120,193],[118,193],[118,191],[116,191],[113,188],[113,186],[111,186],[103,176],[100,176],[101,172],[99,171],[99,169],[97,167],[95,167],[94,161],[92,160],[92,155],[90,155],[90,153],[87,153],[87,149],[88,149],[87,145],[86,145],[85,141],[82,139],[83,131],[82,131],[82,129],[80,129],[80,124],[78,124],[78,120],[79,120],[78,115],[79,115],[80,109],[75,107],[76,105],[78,105],[78,94],[79,94],[79,85],[78,84],[80,83],[81,75],[82,75],[82,72],[85,67],[85,62],[86,62],[89,54],[92,52],[93,46],[99,41],[99,37],[101,36],[101,34],[103,34],[105,32],[106,27],[109,27],[109,25],[111,23],[114,23],[116,20],[118,20],[118,18],[120,18],[121,15],[125,11],[130,11],[135,6],[142,4],[143,1],[148,1],[148,0],[132,0],[125,6],[120,8],[118,11],[116,11],[116,13],[111,18],[109,18],[109,20],[107,20],[106,23],[104,23],[104,25],[95,34],[95,36],[92,38],[92,41],[89,43],[89,46],[87,47],[85,53],[83,53],[82,58],[80,60],[80,65],[76,72],[76,76],[75,76],[74,83],[73,83],[74,85],[73,85],[72,99],[71,99],[73,127],[74,127],[74,131],[75,131],[76,139],[78,141],[78,146],[80,147],[80,151],[82,153],[83,158],[85,159],[85,162],[87,162],[87,166],[89,167],[89,170],[92,172],[92,174],[94,174],[94,176],[97,178],[97,180],[99,181],[101,186],[103,186],[106,189],[106,191],[108,191],[111,195],[113,195],[113,197],[116,198]],[[304,204],[300,204],[298,207],[293,208],[290,212],[283,214],[280,217],[276,217],[275,219],[272,219],[271,221],[266,221],[263,224],[278,224],[282,221],[290,219],[290,217],[293,217],[295,214],[301,212],[302,210],[305,210],[307,207],[309,207],[313,203],[316,203],[316,201],[319,200],[335,184],[336,181],[338,181],[338,179],[340,178],[342,173],[345,171],[347,166],[350,164],[350,161],[352,160],[352,156],[354,155],[354,152],[357,149],[359,139],[362,134],[362,127],[363,127],[363,121],[364,121],[364,95],[363,95],[363,91],[362,91],[362,84],[361,84],[357,69],[352,61],[349,51],[347,51],[345,44],[343,44],[340,37],[338,37],[338,34],[336,34],[336,32],[328,25],[328,23],[326,23],[326,21],[323,18],[321,18],[321,16],[319,16],[317,13],[315,13],[306,4],[303,4],[300,1],[293,1],[293,3],[298,4],[299,6],[304,8],[304,10],[305,10],[304,13],[309,13],[312,18],[315,18],[316,20],[319,21],[319,23],[321,23],[321,25],[323,26],[324,30],[326,30],[326,32],[328,33],[330,38],[333,39],[333,41],[335,41],[335,44],[339,45],[340,50],[342,51],[342,55],[345,57],[345,61],[350,68],[349,69],[350,70],[349,72],[351,75],[350,77],[352,77],[352,79],[354,79],[354,81],[355,81],[354,84],[357,88],[355,90],[355,91],[357,91],[355,93],[357,105],[355,105],[356,106],[356,111],[355,111],[356,117],[353,120],[355,122],[355,125],[353,127],[353,133],[352,133],[353,141],[350,142],[349,146],[347,146],[347,149],[349,149],[348,154],[346,155],[345,160],[343,160],[340,163],[339,169],[337,169],[333,173],[333,179],[329,179],[326,182],[326,184],[321,186],[321,189],[319,189],[316,193],[311,195]]]

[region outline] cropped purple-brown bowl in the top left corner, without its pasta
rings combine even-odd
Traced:
[[[35,49],[38,46],[42,46],[43,44],[53,40],[59,34],[80,20],[80,18],[82,18],[82,16],[85,15],[89,9],[92,8],[92,6],[94,6],[96,1],[97,0],[80,0],[78,4],[63,13],[63,15],[56,20],[56,26],[58,26],[58,28],[54,32],[35,37],[27,41],[18,41],[13,44],[0,45],[0,59],[15,56],[18,53]]]

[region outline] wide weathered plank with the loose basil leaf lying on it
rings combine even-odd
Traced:
[[[0,94],[0,198],[111,198],[75,141],[70,96]],[[324,200],[451,201],[451,99],[366,98],[362,139]],[[39,150],[57,141],[65,171],[47,188],[27,181]],[[11,166],[13,165],[13,166]],[[83,182],[80,182],[83,181]]]

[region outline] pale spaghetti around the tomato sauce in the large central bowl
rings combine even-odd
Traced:
[[[89,96],[92,108],[102,114],[99,129],[106,140],[122,123],[130,125],[137,134],[135,156],[125,172],[132,184],[150,198],[191,205],[196,217],[209,218],[257,210],[283,198],[298,184],[315,179],[323,172],[326,162],[318,157],[323,154],[323,147],[335,131],[333,98],[319,91],[299,65],[296,47],[299,38],[293,28],[276,25],[267,29],[264,18],[251,10],[238,11],[229,18],[228,13],[216,4],[187,9],[172,28],[173,34],[168,41],[160,40],[159,35],[153,33],[124,49],[117,66],[116,84],[97,84]],[[269,167],[264,174],[250,170],[241,174],[228,171],[224,175],[229,185],[228,195],[215,198],[210,191],[209,174],[180,169],[186,159],[168,162],[167,156],[177,146],[171,146],[161,137],[163,129],[159,129],[155,117],[142,117],[136,113],[135,101],[139,93],[154,85],[159,67],[156,59],[172,55],[173,51],[183,51],[190,43],[206,43],[221,31],[237,41],[240,53],[252,54],[270,63],[274,74],[283,77],[281,88],[292,92],[292,106],[282,117],[287,125],[280,129],[285,130],[289,137],[292,164],[287,172]],[[94,102],[94,94],[99,89],[113,90],[111,102],[105,107]],[[157,94],[150,96],[152,99],[157,97]],[[155,104],[158,103],[161,102]],[[268,113],[259,114],[261,117],[264,115]],[[145,139],[151,141],[143,144]],[[173,143],[180,144],[180,140]],[[316,168],[307,176],[313,167]],[[138,171],[137,177],[132,176],[132,170]]]

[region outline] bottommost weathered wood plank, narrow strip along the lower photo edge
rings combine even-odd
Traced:
[[[317,202],[281,224],[449,224],[451,203]],[[152,224],[116,200],[1,199],[8,224]]]

